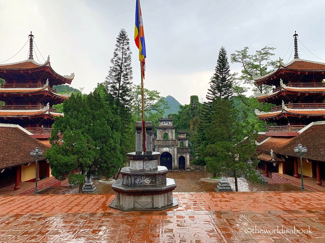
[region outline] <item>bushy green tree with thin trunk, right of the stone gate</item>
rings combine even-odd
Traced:
[[[249,124],[237,120],[231,101],[216,98],[212,111],[211,123],[204,124],[205,139],[198,148],[197,160],[205,161],[208,171],[214,175],[227,170],[233,172],[238,191],[238,176],[257,179],[256,135]]]

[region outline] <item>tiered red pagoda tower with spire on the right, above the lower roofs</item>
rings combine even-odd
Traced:
[[[270,112],[255,110],[266,125],[269,136],[296,136],[311,122],[325,118],[325,63],[300,59],[298,34],[294,34],[294,59],[288,64],[279,60],[279,68],[265,76],[255,77],[257,85],[275,86],[272,93],[256,94],[259,102],[275,104]]]

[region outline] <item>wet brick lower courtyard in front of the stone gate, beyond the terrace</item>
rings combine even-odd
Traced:
[[[201,171],[186,171],[186,172],[169,172],[169,178],[175,179],[176,189],[175,192],[212,192],[218,184],[217,181],[202,180],[202,178],[210,177],[208,172]],[[229,184],[235,189],[234,178],[227,178]],[[94,180],[94,184],[98,189],[98,193],[112,193],[111,184],[99,183]],[[239,191],[300,191],[300,187],[291,184],[269,184],[264,185],[261,183],[251,183],[244,178],[238,178]],[[75,194],[78,193],[79,186],[73,187],[56,187],[48,188],[40,191],[40,194]]]

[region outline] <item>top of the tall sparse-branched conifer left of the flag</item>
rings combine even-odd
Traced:
[[[133,72],[131,66],[130,39],[125,29],[121,29],[116,38],[113,58],[110,59],[110,70],[105,78],[105,87],[114,98],[115,103],[125,107],[131,105]]]

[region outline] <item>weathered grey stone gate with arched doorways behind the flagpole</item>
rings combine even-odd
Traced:
[[[159,119],[157,138],[153,139],[154,151],[160,153],[158,165],[168,170],[190,170],[190,152],[185,131],[177,131],[172,118]]]

